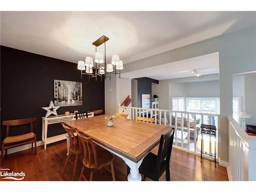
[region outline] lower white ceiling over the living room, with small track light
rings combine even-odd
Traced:
[[[157,80],[175,79],[195,76],[192,71],[197,69],[198,74],[209,75],[219,73],[219,53],[211,53],[164,65],[123,73],[122,77],[140,78],[150,77]],[[201,79],[197,77],[195,80]]]

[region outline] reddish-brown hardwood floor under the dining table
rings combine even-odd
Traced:
[[[157,153],[154,148],[153,153]],[[73,165],[68,164],[65,175],[62,175],[65,160],[67,158],[66,142],[53,143],[47,145],[44,150],[43,145],[37,147],[37,155],[33,155],[32,150],[25,150],[9,154],[4,158],[1,168],[9,168],[10,172],[25,172],[25,181],[71,181]],[[82,157],[79,159],[75,180],[78,180]],[[115,157],[114,168],[117,181],[126,181],[126,164],[119,157]],[[87,178],[89,172],[86,172]],[[94,180],[111,181],[111,173],[103,169],[95,172]],[[146,179],[150,181],[150,179]],[[165,173],[160,180],[165,181]],[[170,180],[172,181],[228,181],[225,167],[215,168],[214,163],[203,160],[200,157],[173,148],[170,158]]]

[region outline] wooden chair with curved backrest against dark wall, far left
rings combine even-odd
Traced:
[[[36,120],[35,117],[27,119],[16,119],[3,121],[3,125],[7,126],[6,138],[2,141],[1,147],[1,162],[3,162],[3,156],[5,151],[5,156],[7,156],[8,148],[13,148],[20,145],[25,145],[31,143],[33,148],[33,143],[35,143],[35,155],[36,155],[36,135],[33,133],[33,122]],[[25,125],[30,123],[30,133],[16,136],[9,136],[9,127],[16,125]]]

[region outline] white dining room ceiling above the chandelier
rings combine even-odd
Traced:
[[[1,45],[77,62],[106,35],[108,61],[117,53],[128,63],[254,26],[255,13],[1,12]]]

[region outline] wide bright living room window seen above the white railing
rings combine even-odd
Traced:
[[[197,113],[220,113],[219,98],[186,98],[186,111]]]

